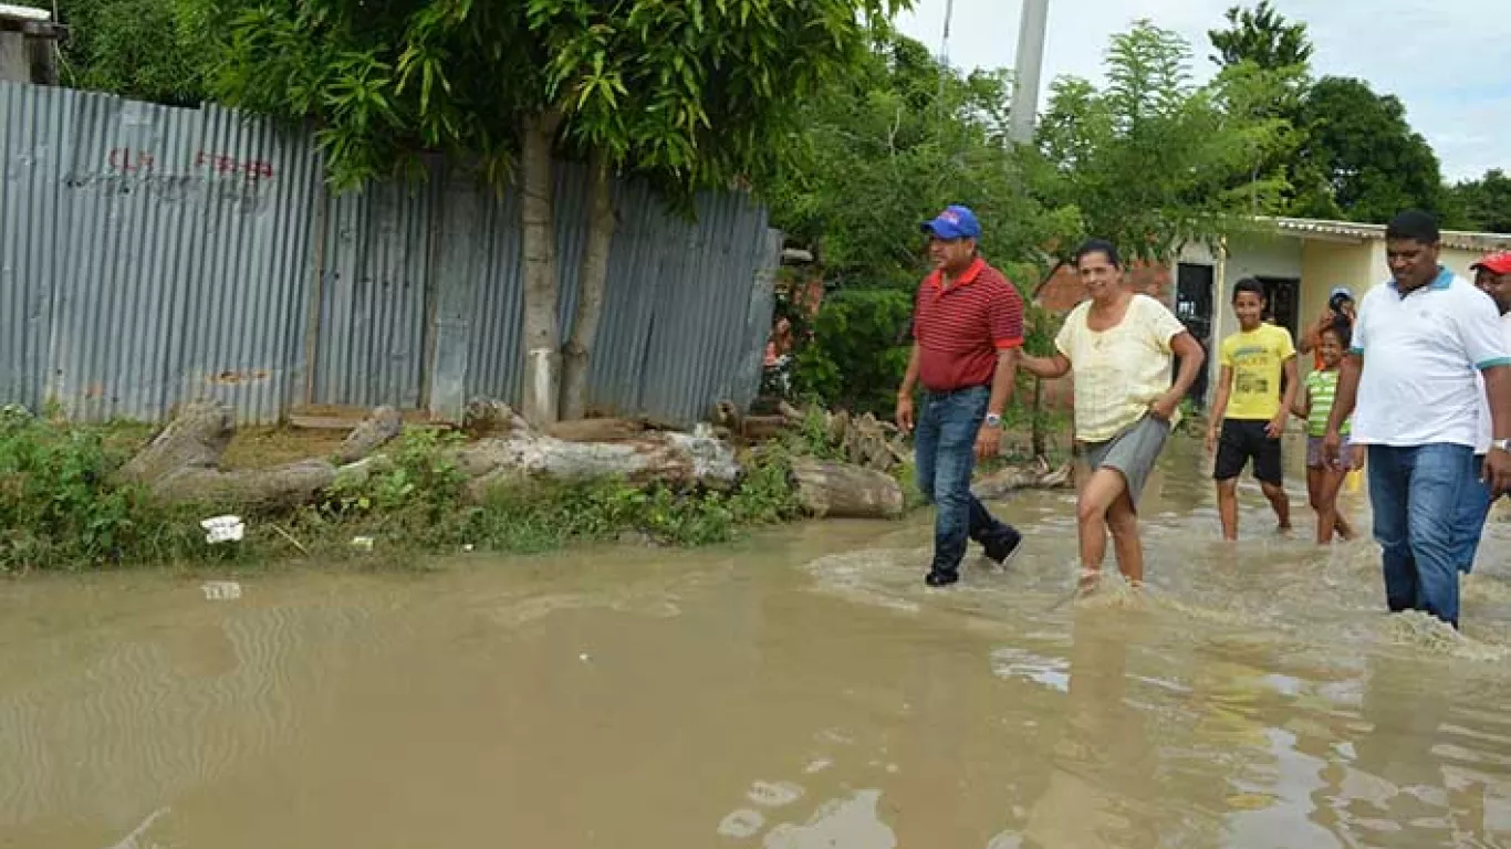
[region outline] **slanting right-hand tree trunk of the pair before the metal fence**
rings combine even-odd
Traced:
[[[562,403],[561,417],[582,418],[588,414],[588,366],[592,360],[592,343],[598,335],[598,319],[603,316],[603,290],[609,279],[609,246],[613,243],[613,186],[609,181],[609,166],[601,153],[594,153],[589,163],[591,196],[588,201],[588,245],[582,252],[582,270],[577,275],[577,308],[573,313],[571,334],[562,358]]]

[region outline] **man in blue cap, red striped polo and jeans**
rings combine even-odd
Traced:
[[[913,444],[919,489],[934,502],[929,586],[959,580],[967,539],[1005,563],[1023,536],[987,512],[970,492],[978,458],[1002,444],[1002,409],[1012,394],[1023,346],[1023,298],[1002,272],[976,255],[981,224],[961,205],[923,222],[934,273],[919,287],[913,357],[898,391],[898,426],[914,429],[913,390],[923,384],[923,414]]]

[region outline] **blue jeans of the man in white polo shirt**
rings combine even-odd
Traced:
[[[1369,446],[1369,500],[1392,612],[1423,610],[1458,627],[1460,509],[1476,473],[1469,446]]]

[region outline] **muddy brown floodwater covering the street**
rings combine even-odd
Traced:
[[[1511,517],[1458,638],[1384,615],[1290,488],[1295,538],[1245,483],[1230,548],[1171,446],[1142,597],[1068,600],[1067,492],[997,505],[1029,547],[947,591],[923,514],[225,600],[3,585],[0,846],[1511,844]]]

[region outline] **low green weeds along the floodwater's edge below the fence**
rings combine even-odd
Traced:
[[[461,437],[406,431],[366,479],[338,480],[311,506],[246,517],[246,538],[210,545],[198,506],[163,508],[112,473],[145,440],[141,429],[68,428],[0,412],[0,573],[237,560],[307,554],[325,562],[476,550],[535,553],[626,533],[665,545],[704,545],[802,515],[790,458],[804,440],[746,464],[730,491],[632,486],[620,480],[515,480],[474,503],[455,462]],[[219,512],[219,511],[216,511]],[[251,515],[248,515],[251,512]],[[358,554],[370,536],[376,554]],[[298,539],[298,548],[290,542]]]

